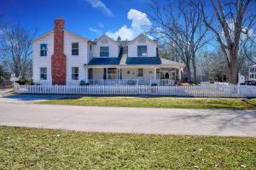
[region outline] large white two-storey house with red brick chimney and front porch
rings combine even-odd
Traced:
[[[141,34],[132,41],[107,35],[90,41],[64,29],[55,20],[54,31],[35,39],[33,81],[38,84],[152,84],[173,85],[181,79],[181,63],[162,59],[158,44]]]

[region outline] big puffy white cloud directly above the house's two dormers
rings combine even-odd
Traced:
[[[113,39],[117,39],[120,36],[122,40],[131,40],[147,31],[152,25],[150,20],[148,20],[147,14],[132,8],[127,14],[127,19],[131,20],[131,27],[124,25],[119,30],[108,31],[106,34]]]

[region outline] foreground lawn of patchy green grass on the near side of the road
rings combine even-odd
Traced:
[[[0,127],[0,169],[255,169],[256,139]]]

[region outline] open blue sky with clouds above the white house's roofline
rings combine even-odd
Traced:
[[[37,30],[37,36],[51,31],[55,17],[61,16],[66,30],[90,39],[102,33],[131,39],[143,31],[143,24],[150,25],[143,13],[148,3],[150,0],[0,0],[0,11],[4,21]]]

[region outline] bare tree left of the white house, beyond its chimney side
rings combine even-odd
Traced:
[[[9,26],[2,31],[2,55],[9,71],[26,78],[32,68],[32,33],[20,26]]]

